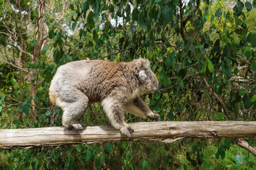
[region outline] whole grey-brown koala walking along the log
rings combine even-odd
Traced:
[[[50,83],[53,105],[63,109],[62,124],[68,130],[82,130],[80,119],[88,105],[100,102],[107,118],[122,135],[134,132],[124,120],[124,112],[159,120],[139,96],[154,93],[159,81],[149,60],[132,62],[80,60],[60,66]]]

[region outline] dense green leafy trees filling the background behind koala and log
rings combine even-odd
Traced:
[[[161,120],[256,118],[256,1],[0,0],[0,125],[60,126],[48,100],[75,60],[144,57],[160,90],[142,96]],[[131,122],[149,121],[127,115]],[[109,123],[99,104],[84,125]],[[255,138],[245,139],[255,146]],[[118,142],[0,151],[1,169],[253,169],[232,139]]]

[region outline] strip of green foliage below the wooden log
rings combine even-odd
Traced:
[[[220,143],[223,145],[225,140]],[[230,149],[225,151],[225,159],[216,159],[218,147],[206,140],[184,140],[171,145],[161,142],[123,142],[112,145],[113,150],[110,152],[107,151],[107,145],[6,151],[9,159],[1,156],[3,164],[0,166],[11,169],[253,169],[255,166],[252,154],[236,145],[230,145]]]

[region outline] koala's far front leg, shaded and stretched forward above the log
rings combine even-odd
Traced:
[[[150,118],[151,120],[159,120],[160,118],[159,114],[154,114],[139,97],[128,103],[124,110],[141,118]]]

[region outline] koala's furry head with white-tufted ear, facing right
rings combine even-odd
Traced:
[[[159,81],[154,72],[151,71],[149,60],[139,58],[134,60],[135,72],[145,93],[153,93],[159,90]]]

